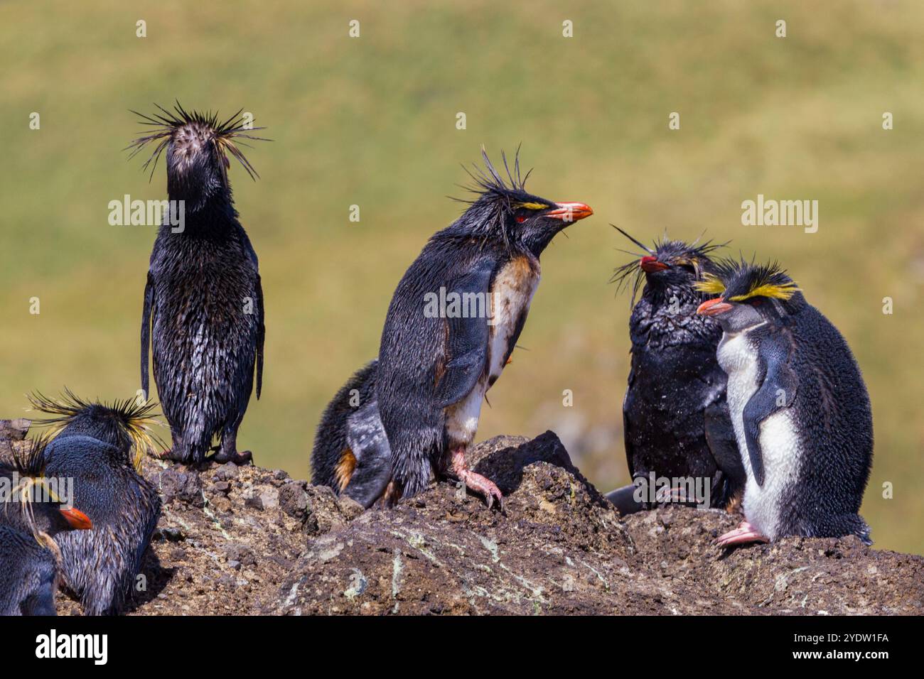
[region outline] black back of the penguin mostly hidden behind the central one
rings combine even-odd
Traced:
[[[357,411],[357,407],[350,403],[351,393],[354,389],[359,391],[359,406],[375,402],[377,370],[377,360],[372,360],[357,370],[324,408],[311,451],[311,483],[314,485],[328,486],[335,491],[342,490],[337,479],[336,467],[341,455],[349,447],[346,442],[347,418]]]

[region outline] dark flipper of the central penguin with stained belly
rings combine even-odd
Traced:
[[[487,298],[492,272],[492,262],[482,259],[456,279],[454,285],[447,286],[448,291],[457,293],[463,300],[472,294],[478,296],[475,299]],[[490,337],[487,318],[456,314],[445,321],[449,335],[445,345],[448,360],[434,393],[440,407],[452,406],[468,396],[484,372]]]

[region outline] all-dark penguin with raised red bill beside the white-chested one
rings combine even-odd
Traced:
[[[648,248],[614,228],[642,252],[629,253],[639,259],[618,267],[611,279],[617,290],[632,287],[623,432],[634,483],[607,497],[621,514],[631,514],[651,506],[647,498],[637,499],[638,486],[650,483],[651,475],[703,479],[709,484],[709,506],[727,508],[744,490],[745,472],[725,403],[725,373],[715,358],[722,328],[696,314],[705,297],[693,287],[714,271],[711,253],[724,244],[699,244],[699,239],[687,244],[664,236]],[[675,488],[669,499],[701,503],[704,498],[687,497],[690,490]]]

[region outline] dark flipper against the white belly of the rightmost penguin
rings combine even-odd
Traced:
[[[742,419],[745,427],[745,443],[748,444],[751,470],[754,480],[763,485],[763,456],[760,453],[760,422],[777,410],[792,405],[798,389],[796,372],[789,367],[789,347],[782,338],[770,338],[760,345],[760,359],[764,365],[764,379],[745,404]]]

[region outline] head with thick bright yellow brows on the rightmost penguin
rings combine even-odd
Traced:
[[[725,333],[741,333],[766,322],[783,324],[805,305],[795,281],[776,262],[722,261],[696,287],[714,296],[700,304],[697,313],[714,317]]]

